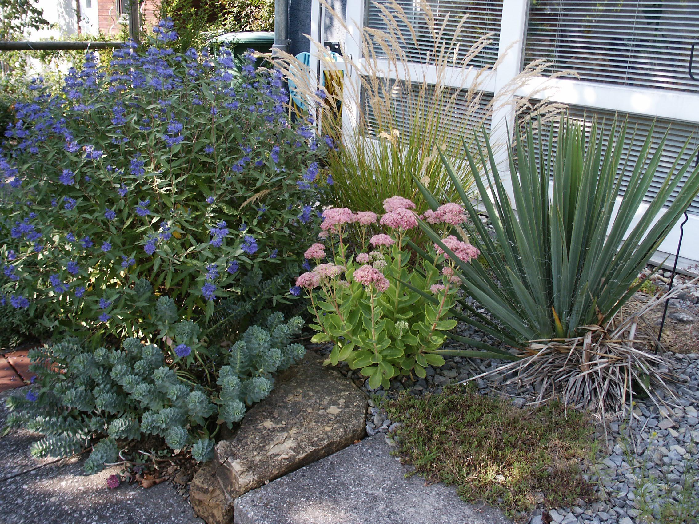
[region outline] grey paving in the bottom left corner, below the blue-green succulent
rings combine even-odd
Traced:
[[[0,394],[0,425],[9,393]],[[38,438],[21,430],[0,437],[0,523],[203,524],[171,483],[149,489],[122,484],[109,490],[106,479],[119,467],[86,476],[85,456],[36,460],[29,456],[29,446]]]

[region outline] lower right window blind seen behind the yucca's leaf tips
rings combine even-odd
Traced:
[[[585,122],[586,129],[588,131],[590,129],[589,123],[591,122],[593,117],[596,116],[598,119],[598,133],[600,133],[601,128],[603,127],[601,124],[603,122],[606,124],[604,126],[605,134],[603,136],[603,143],[605,145],[609,144],[610,131],[615,116],[614,112],[603,110],[591,110],[589,108],[583,108],[578,105],[570,105],[568,107],[568,114],[570,115],[570,117],[572,117],[572,119],[575,119],[578,122]],[[621,166],[619,166],[618,173],[618,175],[622,177],[621,192],[623,193],[624,189],[626,189],[626,182],[628,181],[628,178],[631,172],[633,171],[633,167],[635,166],[638,160],[638,154],[645,141],[646,136],[648,135],[651,129],[651,125],[653,124],[654,119],[645,115],[627,115],[624,113],[617,113],[616,117],[617,122],[624,122],[625,120],[626,122],[628,122],[626,140],[624,142],[624,154],[621,157]],[[558,122],[552,125],[554,125],[554,129],[558,128]],[[667,177],[670,174],[672,163],[675,162],[675,159],[677,159],[677,157],[679,156],[679,153],[682,151],[682,147],[684,147],[684,143],[686,142],[686,140],[689,139],[689,145],[687,146],[686,150],[684,150],[684,153],[682,154],[682,157],[679,160],[676,170],[679,170],[679,168],[681,168],[686,161],[690,161],[693,150],[699,146],[699,124],[690,122],[670,121],[665,119],[656,119],[655,127],[653,129],[654,140],[651,145],[647,161],[649,161],[654,152],[656,152],[658,144],[660,143],[663,136],[665,136],[666,132],[668,133],[668,138],[665,140],[665,147],[663,147],[663,155],[658,165],[658,170],[656,170],[656,174],[654,175],[651,187],[649,188],[644,198],[644,201],[646,202],[652,201],[658,194],[658,189],[661,187],[661,184],[663,184],[665,177]],[[546,152],[548,148],[547,137],[548,131],[543,133],[543,135],[541,136],[541,140],[539,140],[539,147],[542,148],[543,152]],[[556,154],[555,143],[552,151],[554,154]],[[627,164],[626,171],[624,171],[624,159],[626,159],[627,156],[629,161]],[[693,162],[695,160],[692,159],[691,161],[692,163],[689,169],[689,173],[691,173],[691,169],[694,167]],[[677,196],[677,191],[679,191],[679,189],[682,188],[684,182],[686,182],[687,180],[689,173],[685,174],[683,179],[680,180],[679,184],[677,184],[677,189],[670,196],[669,201],[666,202],[665,205],[668,205],[670,202],[674,201],[675,197]],[[692,214],[699,215],[699,196],[694,198],[693,202],[689,206],[689,212]]]

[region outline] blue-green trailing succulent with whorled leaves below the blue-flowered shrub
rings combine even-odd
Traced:
[[[76,338],[29,352],[36,382],[22,396],[8,398],[7,426],[24,425],[45,434],[31,446],[33,456],[71,456],[88,446],[85,471],[115,462],[128,441],[156,435],[173,449],[190,449],[201,462],[212,456],[219,424],[229,428],[248,406],[267,397],[273,373],[305,354],[291,344],[303,321],[284,322],[277,312],[264,327],[250,326],[226,351],[221,348],[215,377],[197,384],[154,344],[136,338],[122,349],[85,349]]]

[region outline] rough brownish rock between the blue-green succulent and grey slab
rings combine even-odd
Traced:
[[[214,465],[196,474],[189,491],[192,506],[209,524],[231,522],[232,503],[243,493],[365,435],[366,395],[322,361],[309,351],[245,414],[233,439],[216,445]]]

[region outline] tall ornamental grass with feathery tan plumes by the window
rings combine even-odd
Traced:
[[[320,3],[352,38],[342,15],[325,0]],[[274,59],[307,107],[324,108],[324,133],[342,136],[327,159],[336,205],[382,212],[385,198],[400,195],[414,200],[418,212],[424,211],[427,205],[414,175],[434,194],[447,200],[456,197],[438,150],[453,160],[461,187],[472,194],[473,170],[462,152],[464,133],[467,147],[473,148],[482,124],[489,125],[493,110],[507,104],[541,116],[561,109],[545,100],[532,107],[527,99],[512,96],[526,80],[542,73],[547,67],[543,61],[526,66],[498,92],[487,92],[502,57],[497,56],[495,35],[475,27],[468,13],[440,13],[424,0],[409,14],[396,0],[375,1],[368,8],[379,13],[383,29],[363,27],[356,37],[361,57],[345,54],[339,66],[354,71],[353,77],[359,73],[359,89],[347,78],[344,82],[343,111],[358,108],[354,129],[340,130],[336,108],[343,101],[342,89],[319,90],[316,72],[290,54],[275,53]],[[308,38],[323,70],[338,71],[338,62],[322,43]],[[396,80],[396,72],[402,80]]]

